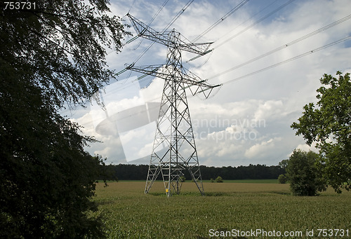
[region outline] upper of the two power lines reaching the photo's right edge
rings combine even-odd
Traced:
[[[246,62],[244,62],[244,63],[238,64],[238,65],[235,66],[235,67],[232,67],[232,68],[230,68],[230,69],[227,69],[227,70],[225,70],[225,71],[222,71],[222,72],[220,72],[220,73],[218,73],[218,74],[216,74],[216,75],[213,75],[213,76],[209,77],[208,79],[216,78],[216,77],[221,76],[221,75],[223,75],[223,74],[226,74],[226,73],[228,73],[228,72],[230,72],[230,71],[234,71],[235,69],[239,69],[240,67],[244,67],[246,64],[250,64],[250,63],[252,63],[252,62],[255,62],[256,60],[260,60],[261,58],[266,57],[267,55],[271,55],[271,54],[273,54],[273,53],[276,53],[276,52],[279,51],[279,50],[282,50],[282,49],[284,49],[284,48],[288,48],[289,46],[292,46],[292,45],[295,44],[295,43],[298,43],[298,42],[300,42],[300,41],[303,41],[303,40],[305,40],[305,39],[307,39],[307,38],[309,38],[309,37],[311,37],[311,36],[314,36],[315,34],[319,34],[320,32],[323,32],[323,31],[325,31],[326,29],[329,29],[329,28],[331,28],[331,27],[334,27],[334,26],[336,26],[336,25],[338,25],[338,24],[340,24],[340,23],[342,23],[342,22],[345,22],[346,20],[349,20],[349,19],[351,19],[351,15],[347,15],[345,18],[341,18],[340,20],[337,20],[336,22],[333,22],[333,23],[331,23],[331,24],[329,24],[329,25],[326,25],[326,26],[324,26],[324,27],[322,27],[322,28],[320,28],[320,29],[317,29],[317,30],[314,31],[314,32],[310,32],[309,34],[307,34],[307,35],[305,35],[305,36],[302,36],[302,37],[300,37],[299,39],[293,40],[293,41],[291,41],[291,42],[289,42],[289,43],[284,44],[283,46],[280,46],[280,47],[278,47],[278,48],[275,48],[274,50],[270,50],[269,52],[264,53],[263,55],[260,55],[260,56],[258,56],[258,57],[255,57],[255,58],[251,59],[251,60],[248,60],[248,61],[246,61]]]

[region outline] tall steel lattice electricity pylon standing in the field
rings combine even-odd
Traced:
[[[131,64],[126,67],[165,80],[145,193],[150,191],[161,172],[166,195],[169,197],[174,193],[179,194],[183,171],[189,170],[192,181],[201,195],[204,195],[185,89],[188,88],[192,95],[201,93],[207,98],[213,88],[220,85],[211,86],[187,71],[182,64],[181,51],[205,55],[211,51],[208,50],[211,43],[186,42],[180,39],[180,33],[174,29],[170,32],[157,32],[129,13],[127,15],[138,36],[167,46],[166,64],[147,67],[135,67]]]

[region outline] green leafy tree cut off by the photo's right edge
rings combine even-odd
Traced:
[[[317,142],[319,168],[336,192],[351,189],[351,81],[350,74],[338,71],[338,78],[324,74],[317,89],[317,107],[303,107],[303,116],[291,128],[307,144]]]

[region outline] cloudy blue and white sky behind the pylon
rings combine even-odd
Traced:
[[[290,125],[302,115],[305,104],[317,102],[316,90],[324,74],[351,72],[351,40],[321,48],[351,36],[351,20],[308,34],[350,15],[351,2],[251,0],[227,17],[241,0],[194,0],[184,8],[188,2],[169,0],[159,11],[164,0],[111,0],[110,15],[131,25],[126,17],[129,12],[149,25],[159,11],[150,27],[163,32],[183,9],[168,30],[176,29],[190,41],[219,22],[196,41],[213,42],[211,53],[192,61],[196,55],[182,53],[186,69],[209,84],[223,84],[208,99],[187,97],[199,164],[277,165],[294,149],[317,151],[296,136]],[[128,31],[136,35],[133,27]],[[308,37],[302,40],[303,36]],[[165,64],[167,48],[159,43],[140,57],[150,43],[138,38],[121,53],[107,50],[109,68],[119,72],[125,64]],[[91,99],[86,108],[62,112],[84,126],[85,135],[100,140],[86,150],[107,158],[106,163],[150,163],[164,80],[152,76],[137,80],[139,76],[143,74],[125,71],[97,93],[105,109]]]

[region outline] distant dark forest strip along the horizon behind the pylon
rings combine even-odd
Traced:
[[[119,180],[145,180],[147,177],[147,170],[149,165],[105,165],[104,170],[107,172],[107,179]],[[279,175],[285,174],[285,170],[280,166],[266,166],[266,165],[249,165],[238,167],[208,167],[201,165],[201,176],[203,180],[216,179],[220,176],[223,180],[234,179],[277,179]],[[190,180],[190,173],[184,170],[185,179]],[[161,174],[159,175],[161,179]]]

